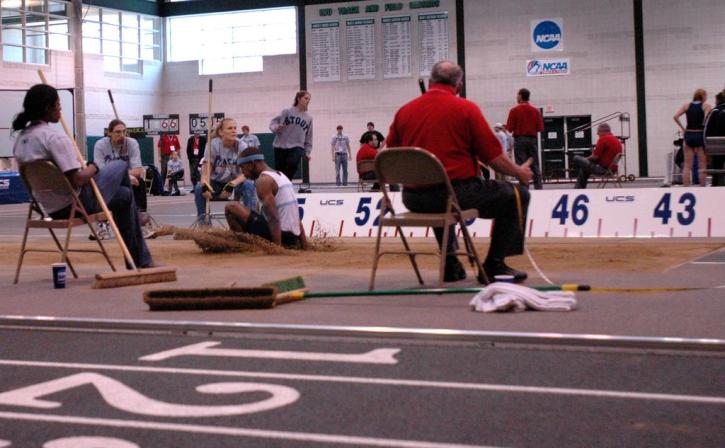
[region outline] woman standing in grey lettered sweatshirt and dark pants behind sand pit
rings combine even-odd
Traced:
[[[306,90],[295,94],[292,107],[284,109],[269,123],[274,133],[274,163],[278,171],[292,179],[302,157],[311,160],[312,116],[307,113],[312,95]]]

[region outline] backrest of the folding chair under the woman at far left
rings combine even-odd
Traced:
[[[68,178],[47,160],[38,160],[20,166],[20,176],[28,192],[38,205],[49,209],[51,204],[71,204],[75,192]]]

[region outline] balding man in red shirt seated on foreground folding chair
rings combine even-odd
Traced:
[[[475,208],[480,217],[494,220],[491,244],[483,264],[486,275],[492,280],[495,275],[513,275],[516,281],[523,281],[526,273],[507,266],[504,258],[523,253],[523,227],[529,205],[529,192],[523,186],[531,181],[531,162],[519,166],[505,156],[478,106],[457,96],[462,86],[461,67],[450,61],[436,63],[431,70],[428,91],[395,114],[387,146],[418,146],[438,157],[461,207]],[[515,176],[520,185],[482,179],[479,161],[496,171]],[[514,189],[518,189],[521,198],[521,217]],[[446,190],[444,187],[404,188],[403,204],[414,212],[442,212]],[[440,245],[443,229],[434,231]],[[457,247],[455,232],[451,230],[445,281],[466,278],[463,266],[453,255]]]

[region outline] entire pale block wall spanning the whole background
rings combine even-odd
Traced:
[[[319,19],[353,18],[337,15],[339,6],[360,6],[377,1],[345,2],[306,7],[309,22]],[[407,2],[404,2],[407,5]],[[449,55],[456,59],[456,11],[454,0],[441,0],[438,10],[449,14]],[[320,17],[321,8],[332,8],[333,16]],[[407,8],[407,6],[406,6]],[[382,5],[381,5],[382,9]],[[675,0],[643,0],[644,45],[647,96],[648,168],[651,176],[664,175],[665,154],[672,149],[676,131],[674,111],[688,101],[695,88],[714,94],[725,87],[725,42],[722,17],[725,2],[699,0],[685,4]],[[612,112],[631,114],[631,138],[627,144],[627,169],[638,173],[637,110],[632,0],[605,2],[577,0],[465,0],[465,54],[468,98],[477,102],[493,124],[505,121],[514,105],[516,91],[527,87],[532,103],[553,110],[549,115],[591,114],[598,118]],[[419,94],[417,78],[417,26],[413,21],[412,76],[383,79],[380,17],[430,12],[405,10],[357,14],[354,18],[376,18],[376,79],[349,81],[346,78],[345,34],[341,29],[341,80],[315,82],[311,73],[309,26],[308,89],[312,92],[310,113],[314,117],[313,182],[333,182],[329,141],[337,124],[345,127],[353,150],[374,121],[387,134],[395,111]],[[530,21],[560,17],[564,24],[564,50],[532,52]],[[571,62],[568,76],[533,78],[526,76],[527,59],[566,57]],[[129,126],[142,125],[142,115],[179,113],[182,142],[188,138],[188,114],[206,112],[207,76],[199,76],[195,62],[145,62],[143,73],[113,74],[103,70],[100,56],[87,55],[85,64],[86,118],[89,135],[99,135],[113,112],[106,90],[112,89],[121,115]],[[37,66],[2,63],[0,88],[28,88],[38,82]],[[49,82],[74,87],[72,53],[52,51],[45,68]],[[214,111],[225,112],[248,124],[252,132],[267,132],[269,120],[291,105],[299,85],[298,55],[268,57],[261,73],[216,75]],[[619,123],[611,122],[615,133]],[[357,178],[350,167],[350,181]],[[187,170],[188,173],[188,170]]]

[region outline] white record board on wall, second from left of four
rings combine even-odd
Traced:
[[[347,79],[375,79],[375,19],[347,20]]]

